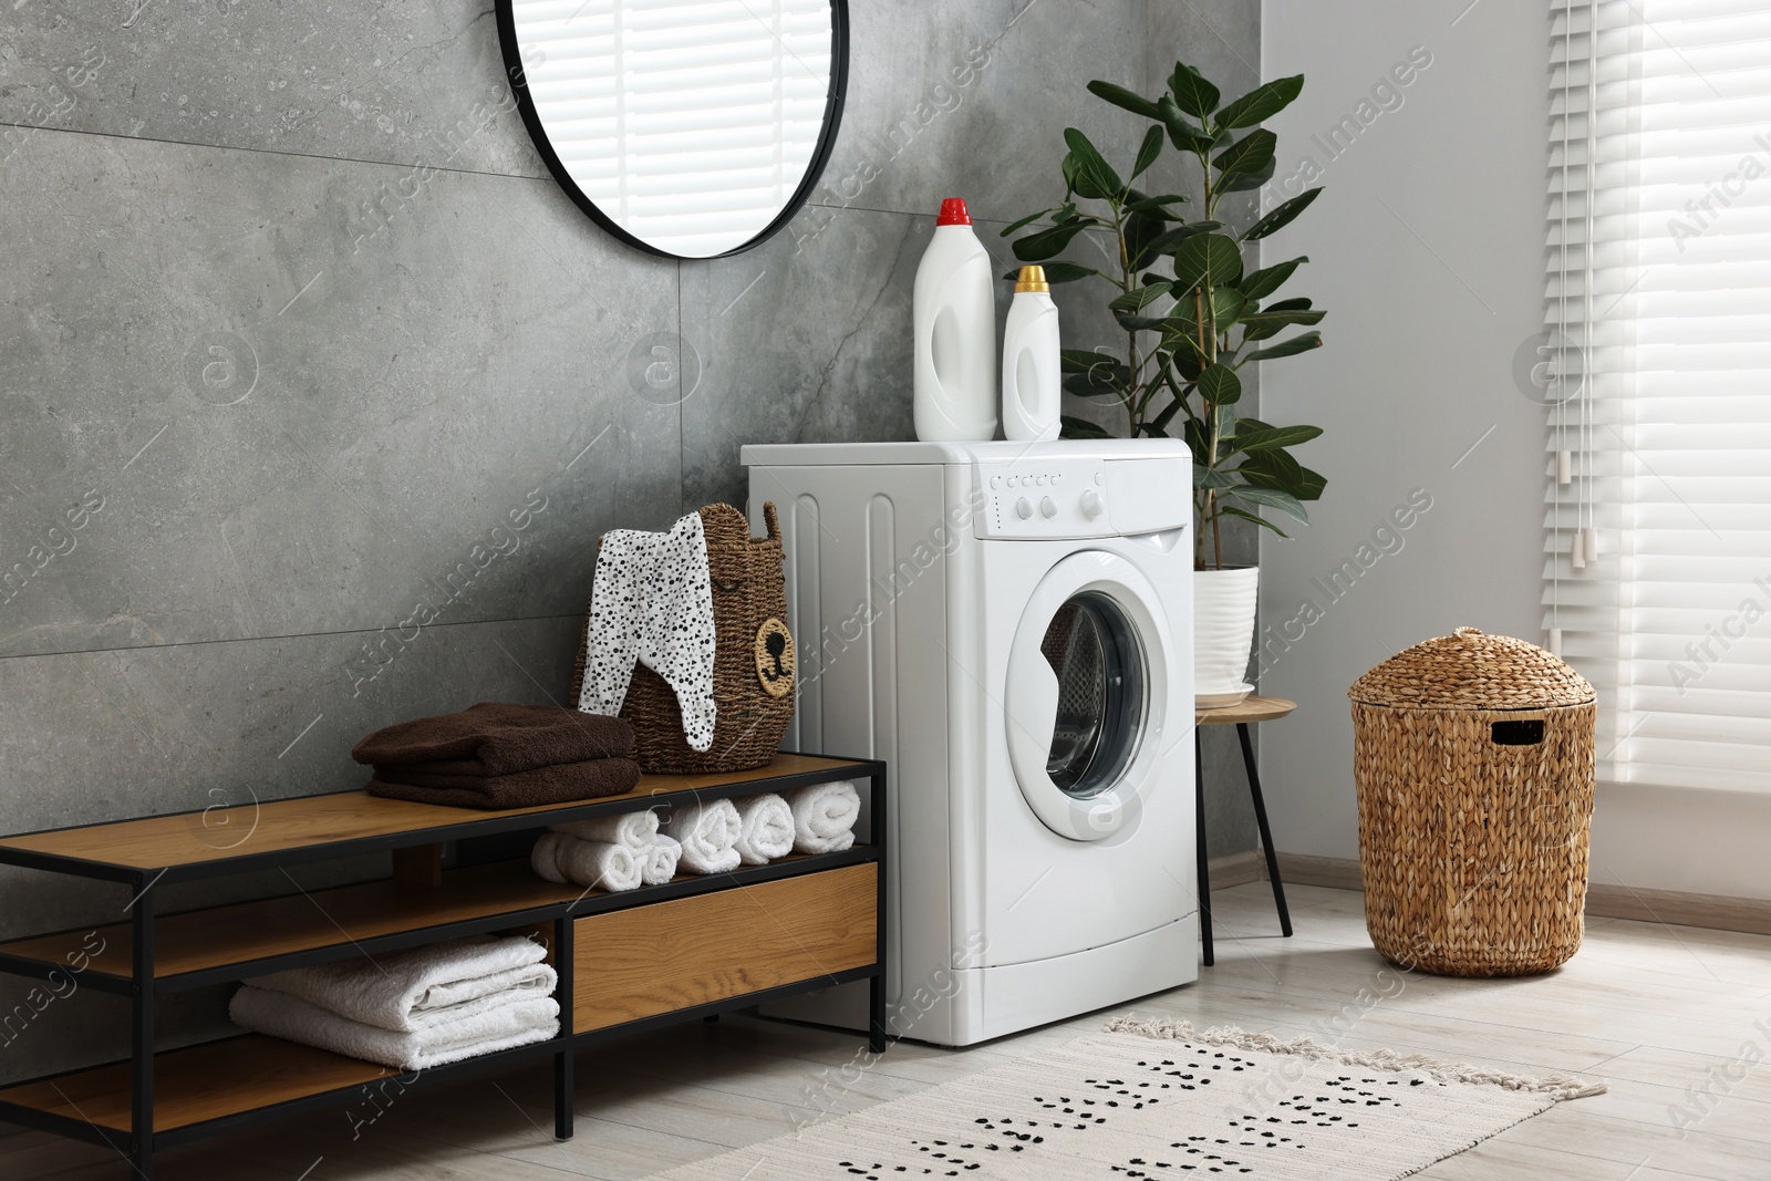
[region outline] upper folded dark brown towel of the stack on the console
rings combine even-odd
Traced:
[[[429,774],[492,777],[632,753],[634,728],[620,717],[482,701],[459,714],[377,729],[356,744],[351,758],[375,767],[423,763]]]

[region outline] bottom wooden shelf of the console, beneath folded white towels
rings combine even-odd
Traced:
[[[312,1046],[246,1034],[154,1055],[154,1131],[239,1115],[275,1103],[358,1087],[398,1071]],[[0,1091],[48,1115],[129,1131],[129,1064],[27,1082]]]

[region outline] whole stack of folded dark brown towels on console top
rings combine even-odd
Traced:
[[[351,751],[370,795],[455,807],[538,807],[632,791],[639,763],[620,717],[482,701],[377,729]]]

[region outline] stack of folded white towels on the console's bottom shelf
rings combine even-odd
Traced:
[[[236,1025],[413,1071],[547,1041],[558,976],[528,937],[457,938],[244,981]]]

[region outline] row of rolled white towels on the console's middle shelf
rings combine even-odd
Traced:
[[[662,885],[685,873],[731,873],[788,853],[836,853],[855,843],[861,793],[820,783],[783,795],[751,795],[657,811],[622,813],[549,829],[530,866],[549,882],[600,891]]]

